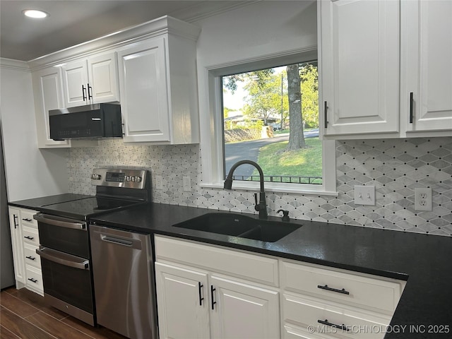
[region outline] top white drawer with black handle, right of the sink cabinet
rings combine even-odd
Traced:
[[[369,278],[342,270],[281,262],[281,285],[285,290],[313,295],[345,304],[392,314],[405,282]]]

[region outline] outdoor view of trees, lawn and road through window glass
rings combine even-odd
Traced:
[[[266,182],[322,184],[317,62],[222,77],[225,176],[252,160]],[[242,165],[236,180],[257,180]]]

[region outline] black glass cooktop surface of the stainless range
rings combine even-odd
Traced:
[[[59,215],[61,217],[86,220],[90,216],[118,210],[137,203],[141,203],[141,201],[91,196],[90,198],[82,198],[76,201],[66,201],[64,203],[54,203],[52,205],[42,206],[40,210],[43,213]]]

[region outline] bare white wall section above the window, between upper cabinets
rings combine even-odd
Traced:
[[[317,45],[316,1],[260,1],[199,20],[198,69]]]

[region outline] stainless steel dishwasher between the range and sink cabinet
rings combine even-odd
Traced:
[[[156,339],[149,234],[90,225],[97,323],[131,339]]]

